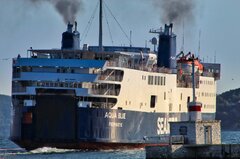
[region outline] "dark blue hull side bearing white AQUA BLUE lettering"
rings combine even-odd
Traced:
[[[169,134],[171,121],[186,121],[187,113],[146,113],[78,108],[78,139],[96,142],[143,143],[146,137]],[[203,114],[215,119],[215,114]]]

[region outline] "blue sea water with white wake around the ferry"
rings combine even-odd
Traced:
[[[225,144],[240,143],[240,131],[222,132]],[[79,151],[43,147],[23,151],[7,138],[0,139],[0,159],[144,159],[144,149]]]

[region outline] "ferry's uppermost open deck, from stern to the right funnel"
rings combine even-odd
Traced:
[[[67,61],[71,63],[77,62],[76,60],[91,60],[91,65],[95,65],[99,61],[105,61],[108,67],[123,67],[144,71],[153,71],[157,60],[156,54],[150,52],[149,48],[141,47],[104,47],[102,52],[99,52],[97,47],[89,47],[89,49],[85,50],[51,49],[28,51],[31,55],[30,58],[33,59],[53,59],[55,61],[61,59],[65,63],[68,63]]]

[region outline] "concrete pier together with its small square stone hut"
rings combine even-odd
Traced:
[[[165,146],[145,148],[147,159],[239,159],[240,144],[221,144],[220,121],[170,123],[170,141]]]

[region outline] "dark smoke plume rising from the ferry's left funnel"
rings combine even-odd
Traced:
[[[48,2],[52,4],[58,13],[63,17],[65,23],[73,23],[77,13],[83,9],[82,0],[30,0],[32,3],[39,4]]]

